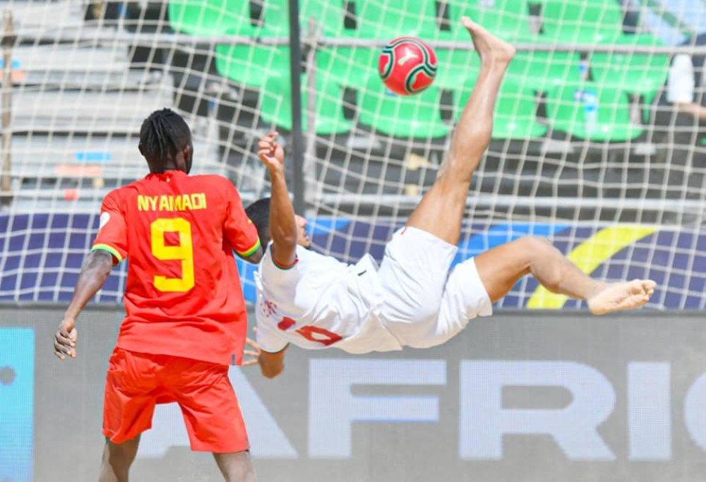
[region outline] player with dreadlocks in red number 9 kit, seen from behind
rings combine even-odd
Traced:
[[[213,452],[227,481],[255,473],[228,365],[241,363],[245,303],[233,258],[256,263],[258,234],[232,183],[189,176],[193,145],[184,119],[153,112],[140,129],[150,174],[106,195],[92,250],[54,336],[59,359],[76,358],[76,318],[112,267],[129,258],[103,407],[100,481],[127,481],[155,404],[177,402],[191,449]]]

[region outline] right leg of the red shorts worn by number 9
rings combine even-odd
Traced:
[[[169,390],[181,407],[191,450],[229,453],[249,449],[228,366],[177,359]]]

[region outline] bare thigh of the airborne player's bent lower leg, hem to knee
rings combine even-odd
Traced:
[[[541,239],[525,236],[475,257],[478,275],[493,303],[508,294],[517,280],[529,274],[532,260],[541,256],[545,248]]]

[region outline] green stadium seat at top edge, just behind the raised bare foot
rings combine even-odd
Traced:
[[[461,17],[468,16],[493,34],[511,42],[534,42],[527,0],[447,0],[448,30],[440,30],[440,40],[470,42]]]

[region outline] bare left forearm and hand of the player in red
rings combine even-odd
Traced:
[[[76,318],[93,295],[103,287],[112,267],[113,256],[107,251],[97,249],[86,256],[71,302],[54,335],[54,354],[59,359],[65,360],[66,356],[76,358]]]

